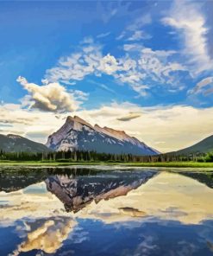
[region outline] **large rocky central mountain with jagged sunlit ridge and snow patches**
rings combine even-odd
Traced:
[[[116,131],[109,127],[92,126],[75,116],[66,118],[59,131],[48,137],[47,147],[52,150],[96,150],[105,153],[131,153],[134,155],[156,155],[153,150],[125,131]]]

